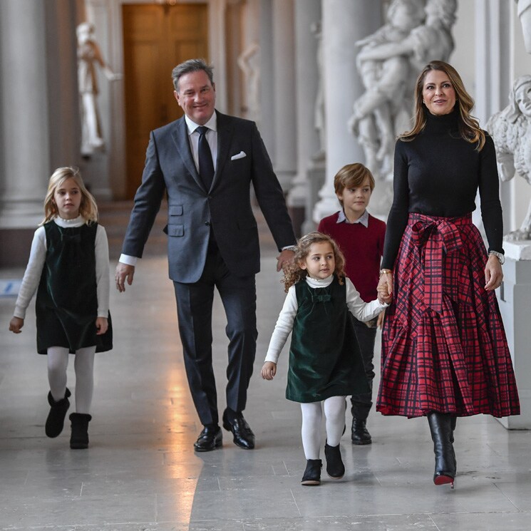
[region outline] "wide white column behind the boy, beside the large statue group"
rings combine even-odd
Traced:
[[[322,31],[326,115],[326,177],[314,207],[314,221],[339,210],[334,175],[346,164],[364,160],[359,143],[349,132],[352,103],[363,93],[356,70],[354,42],[381,25],[380,2],[323,0]]]

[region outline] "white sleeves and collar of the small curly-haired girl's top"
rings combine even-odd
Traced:
[[[306,277],[306,283],[311,288],[326,288],[334,280],[334,275],[330,275],[326,279],[312,279]],[[304,282],[304,281],[301,281]],[[389,306],[388,304],[380,304],[378,299],[365,302],[359,296],[358,290],[354,287],[350,279],[345,279],[346,286],[346,305],[349,307],[351,313],[359,321],[370,321],[376,317],[383,309]],[[295,286],[291,286],[288,289],[284,306],[279,314],[277,324],[274,326],[274,331],[269,341],[269,349],[267,349],[267,355],[264,361],[272,361],[277,363],[280,352],[284,348],[289,334],[293,330],[293,323],[295,316],[297,316],[297,310],[299,304],[297,304],[297,294],[295,292]]]

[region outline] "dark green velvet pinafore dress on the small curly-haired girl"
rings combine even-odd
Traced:
[[[286,398],[318,402],[331,396],[368,393],[364,362],[346,305],[346,285],[295,284],[297,316],[289,349]]]

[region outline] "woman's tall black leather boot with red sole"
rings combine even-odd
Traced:
[[[433,451],[435,452],[433,483],[435,485],[450,483],[453,488],[456,462],[452,444],[452,417],[449,413],[433,412],[428,414],[428,423],[430,424]]]

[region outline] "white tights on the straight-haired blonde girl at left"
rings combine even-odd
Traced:
[[[76,351],[76,413],[89,413],[94,389],[94,354],[96,346],[87,346]],[[68,349],[63,346],[48,347],[48,382],[53,400],[65,397]]]

